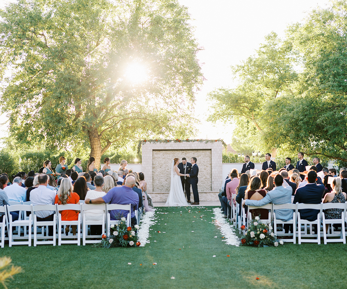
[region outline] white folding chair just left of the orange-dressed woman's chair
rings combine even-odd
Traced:
[[[34,247],[37,244],[52,244],[56,246],[57,237],[56,237],[56,228],[57,228],[57,206],[56,205],[35,205],[31,206],[31,215],[33,217],[33,227],[34,227]],[[53,221],[37,221],[36,212],[38,211],[54,211]],[[53,236],[48,236],[48,226],[53,226]],[[37,227],[41,227],[41,234],[37,235]],[[44,230],[46,229],[46,236],[44,236]],[[42,239],[51,239],[42,240]],[[41,241],[39,241],[41,240]]]

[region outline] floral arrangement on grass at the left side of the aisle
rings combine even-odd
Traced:
[[[139,229],[138,225],[127,227],[126,219],[123,217],[119,224],[110,226],[110,236],[102,235],[101,243],[95,244],[95,247],[112,248],[112,247],[138,247],[141,245],[137,241],[135,230]]]

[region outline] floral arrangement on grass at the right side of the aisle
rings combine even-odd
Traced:
[[[241,239],[242,245],[264,247],[264,246],[275,246],[278,244],[283,245],[282,240],[278,240],[275,234],[272,232],[272,227],[258,222],[259,216],[249,221],[248,230],[245,232],[244,237]],[[244,230],[245,226],[241,226]]]

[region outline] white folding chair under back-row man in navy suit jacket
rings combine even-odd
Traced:
[[[297,220],[298,220],[298,244],[300,245],[302,242],[306,243],[317,243],[318,245],[321,244],[321,215],[322,215],[322,205],[323,203],[320,204],[303,204],[299,203],[298,204],[298,210],[303,210],[303,209],[311,209],[311,210],[319,210],[317,214],[317,219],[314,221],[308,221],[305,219],[301,219],[300,212],[297,213]],[[312,225],[317,225],[317,233],[314,234]],[[302,228],[302,226],[304,228]],[[310,233],[307,233],[307,226],[310,228]],[[301,229],[304,229],[302,231]],[[310,238],[310,239],[308,239]],[[314,239],[312,239],[314,238]]]

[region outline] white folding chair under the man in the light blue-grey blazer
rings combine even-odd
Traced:
[[[272,209],[273,209],[273,232],[275,234],[275,236],[278,237],[283,237],[283,236],[291,236],[291,239],[282,239],[283,242],[293,242],[293,244],[296,244],[296,215],[298,212],[297,209],[297,204],[280,204],[280,205],[275,205],[273,204]],[[281,210],[281,209],[286,209],[286,210],[293,210],[293,219],[289,220],[289,221],[282,221],[282,220],[278,220],[276,218],[276,212],[275,210]],[[282,230],[281,231],[277,231],[277,225],[282,224]],[[284,224],[291,224],[293,225],[293,233],[285,233],[285,230],[283,228]]]

